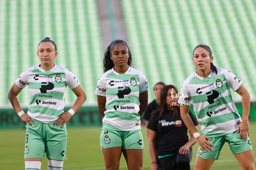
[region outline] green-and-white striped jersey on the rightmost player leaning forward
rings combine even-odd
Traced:
[[[226,69],[217,68],[218,74],[211,72],[207,78],[194,72],[182,85],[179,103],[193,104],[203,135],[218,137],[237,130],[241,122],[231,96],[242,81]]]

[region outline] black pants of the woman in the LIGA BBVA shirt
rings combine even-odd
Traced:
[[[189,154],[180,154],[158,158],[158,166],[161,170],[190,170],[190,161],[192,159],[192,148]]]

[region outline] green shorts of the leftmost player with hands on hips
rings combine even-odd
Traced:
[[[26,125],[24,158],[41,158],[46,153],[48,159],[63,161],[66,158],[67,130],[66,125],[43,124]]]

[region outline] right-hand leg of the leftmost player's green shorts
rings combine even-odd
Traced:
[[[66,125],[61,128],[61,124],[54,126],[47,124],[45,128],[47,133],[46,139],[46,156],[48,159],[64,161],[66,159],[67,150],[67,129]]]

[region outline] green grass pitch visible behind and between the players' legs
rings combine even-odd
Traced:
[[[64,162],[65,170],[88,170],[104,169],[103,154],[101,153],[99,137],[100,127],[92,128],[69,128],[67,159]],[[252,146],[256,146],[256,123],[250,124],[250,138]],[[144,136],[144,156],[143,169],[150,169],[150,157],[148,154],[148,144],[146,138],[146,129],[142,127]],[[1,170],[20,170],[24,169],[23,145],[25,130],[0,130],[0,169]],[[194,157],[191,167],[194,165],[197,144],[194,146]],[[254,150],[256,155],[256,150]],[[43,159],[42,168],[47,169],[47,159]],[[127,169],[124,158],[121,158],[120,169]],[[221,151],[220,158],[215,161],[211,169],[241,169],[236,158],[229,150],[226,143]]]

